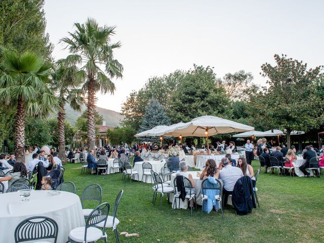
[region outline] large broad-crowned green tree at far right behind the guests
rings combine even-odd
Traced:
[[[290,147],[291,131],[307,132],[322,124],[324,102],[316,95],[322,67],[308,69],[306,63],[287,55],[274,55],[274,60],[275,66],[261,66],[269,87],[255,95],[249,112],[264,127],[284,130]]]

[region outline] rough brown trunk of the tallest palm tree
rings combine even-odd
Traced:
[[[96,89],[95,80],[92,75],[89,76],[88,83],[88,113],[87,113],[87,129],[88,129],[88,147],[89,150],[95,150],[96,143],[96,125],[95,125],[95,109],[96,109]]]

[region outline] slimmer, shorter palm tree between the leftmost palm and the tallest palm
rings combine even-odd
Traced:
[[[78,89],[82,85],[83,79],[78,76],[78,68],[76,66],[67,66],[64,59],[57,62],[52,73],[52,89],[58,98],[59,109],[57,116],[58,124],[58,140],[59,140],[59,158],[66,162],[65,155],[65,104],[69,103],[71,108],[80,111],[81,105],[84,103],[83,92]]]

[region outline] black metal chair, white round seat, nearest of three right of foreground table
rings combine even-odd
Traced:
[[[83,243],[83,242],[97,242],[99,239],[104,239],[107,242],[107,234],[105,227],[107,218],[109,215],[110,206],[108,203],[103,203],[97,206],[91,211],[85,227],[78,227],[72,229],[69,233],[68,240],[66,242],[71,243]],[[97,225],[102,224],[103,228],[100,230]],[[91,235],[87,234],[91,231]]]

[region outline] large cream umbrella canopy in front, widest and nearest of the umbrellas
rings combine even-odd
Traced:
[[[189,123],[173,126],[164,135],[206,137],[206,130],[208,130],[208,135],[212,136],[216,134],[251,131],[254,130],[254,127],[217,116],[204,115],[194,118]]]

